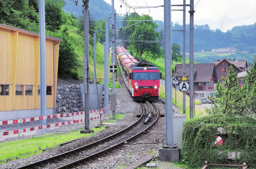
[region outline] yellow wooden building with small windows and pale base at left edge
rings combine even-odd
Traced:
[[[56,98],[61,39],[46,36],[47,115]],[[40,115],[39,34],[0,24],[0,120]]]

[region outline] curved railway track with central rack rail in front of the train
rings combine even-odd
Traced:
[[[142,115],[134,124],[125,128],[124,130],[103,138],[99,141],[95,141],[91,144],[73,149],[69,152],[65,152],[60,155],[55,155],[54,157],[44,159],[42,161],[22,166],[19,169],[71,169],[111,152],[116,147],[125,144],[126,141],[130,141],[131,139],[141,135],[158,121],[160,113],[157,107],[151,103],[156,110],[156,112],[153,113],[151,104],[148,101],[146,101],[146,104],[148,105],[149,109],[148,113],[146,113],[146,108],[141,103],[143,108]],[[148,114],[151,114],[150,116],[152,116],[154,120],[149,120],[148,123],[145,124],[143,123],[143,119],[148,118]]]

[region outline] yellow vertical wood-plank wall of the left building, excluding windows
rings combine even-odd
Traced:
[[[46,39],[47,86],[52,86],[52,94],[47,95],[47,108],[53,108],[55,104],[57,85],[57,70],[56,68],[54,70],[53,51],[55,43],[58,41]],[[58,50],[58,47],[55,45],[55,51]],[[40,95],[38,95],[38,85],[40,85],[39,48],[39,37],[0,27],[0,84],[9,85],[9,96],[0,96],[0,111],[40,109]],[[57,62],[55,67],[58,69],[56,52],[55,61]],[[16,96],[15,85],[32,86],[32,95],[26,95],[26,87],[23,86],[23,95]]]

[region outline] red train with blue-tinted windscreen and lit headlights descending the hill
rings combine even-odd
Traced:
[[[116,48],[125,85],[134,101],[153,101],[160,96],[162,73],[149,62],[138,62],[125,48]]]

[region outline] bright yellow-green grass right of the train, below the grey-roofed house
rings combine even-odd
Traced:
[[[183,110],[183,93],[181,91],[177,91],[177,106],[180,107],[180,112]],[[160,97],[165,100],[165,86],[160,85]],[[175,104],[175,89],[172,88],[172,103]],[[201,104],[201,101],[195,99],[195,105]],[[195,108],[195,117],[202,115],[204,110]],[[186,115],[189,118],[189,96],[186,95]]]

